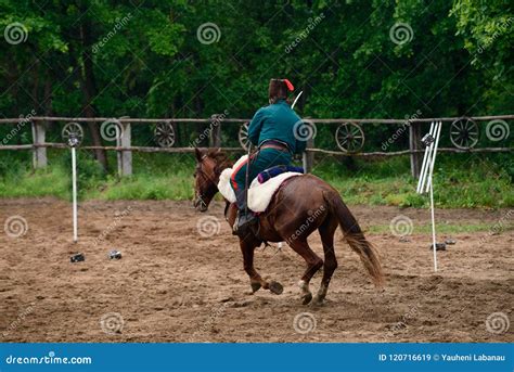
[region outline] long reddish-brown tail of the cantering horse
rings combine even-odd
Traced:
[[[340,229],[344,233],[344,239],[351,249],[359,255],[362,264],[373,279],[373,282],[377,286],[382,286],[384,284],[384,273],[375,247],[367,241],[359,223],[343,202],[339,194],[336,191],[330,194],[324,192],[323,194],[332,214],[337,217]]]

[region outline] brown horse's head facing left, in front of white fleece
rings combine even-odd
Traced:
[[[205,152],[194,149],[196,169],[194,171],[193,206],[200,211],[206,211],[218,192],[219,175],[230,166],[227,155],[220,149],[209,149]]]

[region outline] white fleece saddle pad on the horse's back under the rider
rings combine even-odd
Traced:
[[[218,190],[230,203],[235,203],[235,193],[230,185],[230,177],[232,176],[233,169],[236,169],[241,163],[246,161],[247,157],[247,155],[242,156],[232,168],[224,169],[219,177]],[[271,202],[271,197],[273,197],[273,194],[282,182],[287,178],[301,175],[303,174],[296,171],[286,171],[269,179],[265,183],[259,183],[256,177],[252,181],[248,190],[248,208],[253,211],[265,211]]]

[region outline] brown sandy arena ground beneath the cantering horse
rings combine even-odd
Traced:
[[[207,213],[218,218],[220,231],[203,238],[197,222],[207,215],[187,202],[86,202],[80,242],[74,245],[68,203],[0,200],[2,227],[15,215],[28,226],[21,238],[0,231],[0,341],[514,341],[514,324],[509,328],[509,319],[514,322],[512,230],[452,235],[457,244],[439,252],[440,271],[434,274],[431,236],[415,231],[416,225],[428,223],[428,210],[350,209],[364,229],[409,216],[414,233],[407,242],[390,233],[368,233],[386,272],[386,287],[378,291],[337,232],[339,268],[326,304],[311,307],[300,304],[296,286],[304,260],[287,246],[256,252],[259,272],[280,281],[284,293],[248,294],[237,239],[230,234],[220,203]],[[437,220],[492,227],[505,214],[438,210]],[[440,234],[439,241],[445,238]],[[318,234],[310,243],[322,254]],[[110,260],[110,249],[120,251],[123,259]],[[72,264],[76,252],[86,261]],[[313,291],[320,279],[318,273]],[[310,316],[304,315],[296,329],[307,333],[294,326],[303,312]],[[494,312],[503,315],[493,320]]]

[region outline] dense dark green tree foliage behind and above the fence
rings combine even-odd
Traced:
[[[298,111],[310,117],[512,114],[512,4],[0,0],[0,117],[250,117],[270,77],[304,90]],[[61,125],[50,125],[49,141]],[[180,127],[181,144],[202,129]],[[10,130],[0,126],[0,138]],[[98,127],[88,130],[101,141]],[[227,145],[235,130],[223,129]],[[367,150],[394,130],[367,126]],[[317,145],[335,150],[332,131],[319,128]],[[149,144],[152,128],[132,137]],[[30,142],[29,126],[9,141]],[[389,150],[406,144],[403,136]]]

